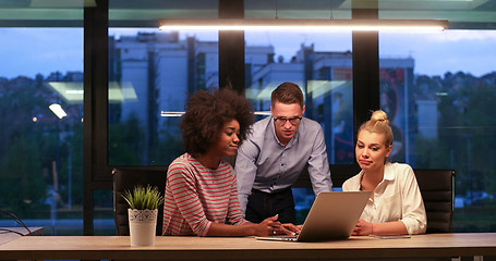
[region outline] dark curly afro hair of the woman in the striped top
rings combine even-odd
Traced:
[[[230,88],[214,91],[197,90],[190,95],[181,117],[181,135],[189,153],[204,153],[220,138],[226,123],[240,123],[239,139],[242,142],[253,124],[252,105],[243,96]]]

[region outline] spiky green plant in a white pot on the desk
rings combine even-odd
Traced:
[[[128,215],[131,246],[154,246],[158,207],[164,202],[158,188],[137,185],[133,191],[128,190],[122,197],[130,206]]]

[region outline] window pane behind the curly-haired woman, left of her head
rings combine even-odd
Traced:
[[[218,34],[109,29],[109,165],[168,165],[186,95],[218,87]]]

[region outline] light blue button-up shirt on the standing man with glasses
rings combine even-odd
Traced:
[[[286,189],[306,165],[315,195],[332,190],[324,132],[317,122],[303,117],[286,146],[276,137],[273,116],[253,124],[252,134],[241,145],[235,160],[243,213],[252,188],[264,192]]]

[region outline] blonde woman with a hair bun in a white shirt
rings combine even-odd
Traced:
[[[353,235],[425,233],[427,216],[412,167],[387,161],[392,138],[387,114],[380,110],[359,128],[355,157],[362,171],[346,181],[342,190],[367,190],[372,196]]]

